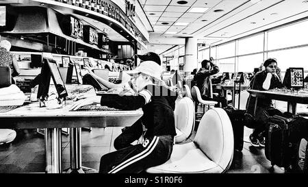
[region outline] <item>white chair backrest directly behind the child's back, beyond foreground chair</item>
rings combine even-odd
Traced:
[[[175,103],[175,127],[183,134],[175,137],[175,142],[183,142],[190,138],[194,130],[194,102],[183,97]]]

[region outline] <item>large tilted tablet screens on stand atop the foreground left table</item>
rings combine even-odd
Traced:
[[[68,92],[61,77],[57,62],[51,58],[43,58],[42,70],[40,72],[41,79],[38,85],[38,99],[45,100],[48,97],[50,79],[53,78],[58,98],[66,99]]]

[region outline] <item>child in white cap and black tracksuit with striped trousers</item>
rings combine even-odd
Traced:
[[[71,109],[101,103],[121,110],[137,110],[142,108],[144,114],[133,124],[133,128],[125,130],[114,142],[117,151],[102,156],[100,173],[140,173],[151,166],[166,162],[172,153],[175,132],[175,100],[176,92],[165,86],[159,86],[162,67],[152,61],[140,63],[133,70],[133,85],[137,96],[108,95],[88,97],[77,101]],[[131,142],[143,136],[143,142],[131,145]],[[122,141],[122,142],[120,142]]]

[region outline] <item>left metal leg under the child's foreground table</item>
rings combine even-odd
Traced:
[[[46,173],[61,173],[61,129],[44,130]]]

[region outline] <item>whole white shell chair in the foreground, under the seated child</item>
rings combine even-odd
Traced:
[[[233,129],[222,108],[208,110],[194,141],[176,144],[170,159],[147,173],[224,173],[233,160]]]

